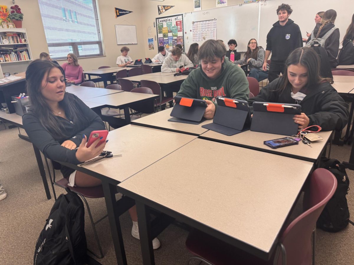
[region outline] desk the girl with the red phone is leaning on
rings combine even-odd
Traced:
[[[122,199],[115,201],[116,185],[196,139],[196,136],[127,125],[110,131],[107,139],[109,141],[105,150],[112,151],[113,154],[122,154],[121,157],[104,158],[85,167],[63,164],[101,179],[117,263],[127,264],[119,212],[123,213],[129,208],[127,205],[121,206]],[[125,211],[120,210],[120,207],[125,207]]]

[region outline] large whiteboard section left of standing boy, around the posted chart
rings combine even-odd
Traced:
[[[275,12],[274,12],[275,13]],[[258,36],[259,2],[225,6],[184,13],[184,49],[188,52],[193,43],[192,22],[216,19],[216,39],[223,40],[227,46],[230,39],[237,42],[237,51],[246,52],[250,39]],[[200,45],[204,41],[197,41]],[[264,44],[262,44],[264,45]],[[228,48],[227,48],[228,49]]]

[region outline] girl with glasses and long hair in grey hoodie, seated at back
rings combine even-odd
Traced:
[[[258,46],[256,39],[251,39],[247,45],[247,52],[242,60],[237,60],[234,64],[248,64],[250,69],[249,76],[257,79],[258,82],[268,77],[269,65],[267,71],[263,71],[265,51],[261,46]]]

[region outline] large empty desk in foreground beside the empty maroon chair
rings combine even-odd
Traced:
[[[117,189],[136,201],[143,264],[155,264],[151,240],[162,231],[151,222],[150,207],[268,260],[312,168],[308,161],[196,139]]]

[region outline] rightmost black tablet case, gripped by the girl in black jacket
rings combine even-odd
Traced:
[[[268,104],[268,106],[263,104]],[[282,105],[295,108],[282,107]],[[298,124],[294,122],[293,117],[299,114],[301,114],[301,106],[298,104],[253,102],[251,131],[295,135]]]

